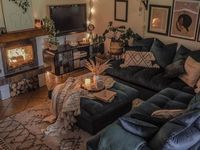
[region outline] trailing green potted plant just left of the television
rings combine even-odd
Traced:
[[[46,18],[43,19],[43,26],[42,27],[49,34],[48,43],[47,43],[48,48],[50,50],[57,50],[59,42],[58,42],[56,35],[58,34],[58,32],[56,31],[54,21],[46,17]]]

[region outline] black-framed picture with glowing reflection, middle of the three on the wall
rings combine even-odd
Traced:
[[[150,5],[148,32],[168,35],[170,13],[171,6]]]

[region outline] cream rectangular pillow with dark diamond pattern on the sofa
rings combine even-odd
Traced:
[[[128,66],[159,68],[157,64],[152,63],[155,61],[155,57],[151,52],[126,51],[124,60],[124,64],[121,65],[122,68]]]

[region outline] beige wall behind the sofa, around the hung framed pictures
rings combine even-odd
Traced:
[[[115,0],[95,0],[95,32],[102,34],[109,21],[114,21]],[[150,4],[172,6],[173,0],[150,0]],[[128,22],[114,21],[115,25],[126,25],[144,37],[156,37],[165,43],[177,42],[192,50],[200,50],[200,42],[147,33],[148,11],[139,12],[140,0],[129,0]],[[144,10],[144,9],[143,9]]]

